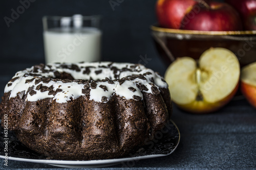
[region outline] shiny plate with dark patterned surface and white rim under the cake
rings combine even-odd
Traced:
[[[4,130],[1,127],[0,136],[0,158],[5,159],[4,152]],[[88,160],[88,161],[74,161],[74,160],[48,160],[46,156],[40,155],[23,145],[17,140],[12,131],[8,132],[8,160],[33,162],[33,163],[47,163],[59,167],[106,167],[116,164],[123,164],[124,167],[141,159],[156,158],[172,154],[177,148],[180,141],[180,132],[175,123],[170,120],[162,131],[159,131],[156,138],[148,142],[147,145],[139,149],[136,153],[130,154],[130,157],[118,159],[105,160]]]

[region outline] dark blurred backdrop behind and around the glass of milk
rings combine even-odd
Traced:
[[[23,2],[25,0],[22,0]],[[28,0],[26,0],[28,1]],[[163,72],[162,63],[158,59],[150,25],[156,22],[155,3],[151,1],[116,1],[119,6],[114,10],[109,1],[60,1],[37,0],[30,3],[24,13],[10,23],[8,28],[4,17],[11,18],[12,11],[22,4],[19,1],[2,1],[1,51],[3,60],[21,60],[44,62],[44,44],[42,39],[42,21],[44,15],[72,16],[102,15],[102,60],[138,63],[141,56],[147,55],[151,61],[149,67],[158,64]],[[142,62],[143,64],[143,62]],[[158,70],[159,71],[159,70]]]

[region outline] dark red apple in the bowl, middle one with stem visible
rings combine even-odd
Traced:
[[[220,2],[199,1],[184,16],[180,29],[200,31],[239,31],[242,21],[230,5]]]

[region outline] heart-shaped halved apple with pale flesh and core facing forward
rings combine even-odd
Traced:
[[[172,100],[193,113],[216,111],[228,103],[238,90],[239,61],[226,48],[210,48],[199,61],[181,57],[165,72]]]

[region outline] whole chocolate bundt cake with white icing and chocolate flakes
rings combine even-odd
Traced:
[[[8,115],[22,143],[51,159],[118,158],[163,128],[172,113],[167,86],[139,64],[40,64],[8,82],[0,116]]]

